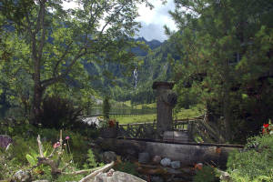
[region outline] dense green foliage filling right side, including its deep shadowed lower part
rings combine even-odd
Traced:
[[[209,120],[229,142],[245,142],[272,117],[269,2],[176,1],[170,12],[179,28],[167,29],[179,56],[169,59],[178,106],[206,106]]]

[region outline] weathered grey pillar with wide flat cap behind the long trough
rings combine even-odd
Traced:
[[[171,89],[174,84],[169,82],[154,82],[157,89],[157,137],[162,137],[165,131],[173,130],[172,109],[177,104],[177,94]]]

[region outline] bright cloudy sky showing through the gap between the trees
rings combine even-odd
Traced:
[[[160,42],[167,40],[165,35],[164,25],[167,25],[171,30],[177,30],[175,22],[172,20],[168,11],[175,9],[174,0],[167,0],[167,4],[162,5],[160,0],[150,0],[155,7],[150,10],[146,5],[138,5],[139,17],[136,18],[140,22],[142,28],[136,33],[136,37],[144,37],[147,41],[156,39]],[[66,8],[73,8],[76,4],[64,2]]]

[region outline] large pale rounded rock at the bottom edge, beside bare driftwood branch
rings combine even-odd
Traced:
[[[139,177],[115,171],[111,177],[107,177],[107,173],[99,173],[96,175],[94,182],[147,182]]]

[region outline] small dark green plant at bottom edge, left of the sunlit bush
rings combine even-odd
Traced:
[[[197,171],[197,175],[193,177],[194,182],[217,182],[217,174],[213,167],[204,166]]]

